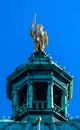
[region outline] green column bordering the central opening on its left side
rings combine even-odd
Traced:
[[[27,107],[32,108],[32,105],[33,105],[33,86],[32,82],[28,82]]]

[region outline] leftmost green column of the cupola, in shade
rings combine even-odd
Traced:
[[[19,96],[18,91],[13,90],[12,92],[12,113],[13,116],[17,114],[17,111],[19,110]]]

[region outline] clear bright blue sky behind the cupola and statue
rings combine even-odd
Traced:
[[[0,1],[0,117],[11,115],[11,102],[6,98],[6,77],[27,62],[33,53],[29,29],[34,13],[37,24],[43,24],[48,34],[46,53],[74,76],[68,113],[70,117],[80,117],[79,0]]]

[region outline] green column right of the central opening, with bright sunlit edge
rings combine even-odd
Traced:
[[[53,108],[53,84],[50,82],[47,89],[47,108]]]

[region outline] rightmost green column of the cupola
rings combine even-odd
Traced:
[[[64,116],[67,117],[67,106],[68,106],[68,102],[67,102],[67,91],[63,91],[62,92],[62,98],[61,98],[61,108],[64,111]]]

